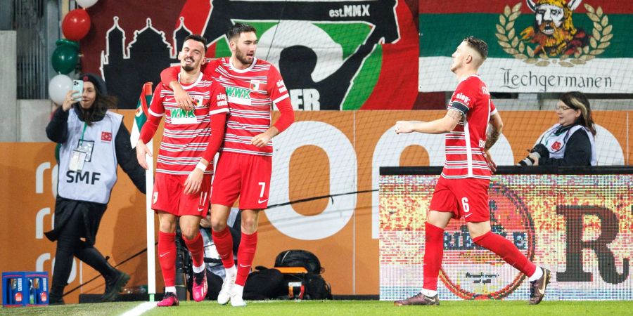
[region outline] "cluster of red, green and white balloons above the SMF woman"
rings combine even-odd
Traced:
[[[61,26],[65,39],[56,41],[57,48],[51,56],[53,70],[58,72],[58,75],[49,82],[49,96],[56,104],[62,104],[66,93],[72,88],[72,79],[68,77],[68,74],[75,70],[79,60],[79,43],[77,41],[83,39],[90,30],[90,15],[85,9],[94,6],[97,1],[77,0],[77,4],[82,8],[68,12],[62,21]]]

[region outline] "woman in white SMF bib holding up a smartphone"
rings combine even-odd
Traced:
[[[145,171],[136,161],[123,116],[108,111],[117,99],[95,74],[82,74],[53,113],[46,135],[59,144],[59,175],[55,228],[46,232],[57,241],[49,302],[63,304],[73,257],[106,279],[101,301],[114,301],[129,275],[113,268],[94,247],[99,223],[117,180],[117,164],[145,193]]]

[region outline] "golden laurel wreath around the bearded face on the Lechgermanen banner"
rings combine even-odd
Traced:
[[[521,15],[522,4],[522,2],[519,2],[512,8],[510,6],[504,8],[504,13],[499,15],[499,24],[497,24],[497,33],[495,35],[499,39],[499,45],[506,53],[513,55],[514,58],[523,60],[525,63],[539,67],[545,67],[550,63],[556,64],[557,62],[562,67],[584,65],[587,61],[604,53],[605,48],[611,44],[613,25],[609,24],[609,18],[602,11],[602,7],[599,6],[596,10],[589,4],[584,4],[584,8],[587,9],[587,17],[594,23],[593,37],[589,38],[589,45],[584,46],[584,48],[577,48],[573,58],[569,55],[561,55],[558,59],[553,59],[556,56],[548,56],[545,52],[535,55],[534,49],[525,45],[514,29],[514,22]]]

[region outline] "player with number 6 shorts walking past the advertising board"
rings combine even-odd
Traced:
[[[444,230],[452,218],[463,217],[475,244],[501,256],[530,279],[530,304],[545,296],[549,270],[530,262],[508,239],[490,227],[488,186],[496,169],[488,150],[501,135],[503,122],[477,71],[487,57],[485,41],[468,37],[453,53],[451,71],[459,84],[442,119],[397,121],[396,133],[447,133],[446,163],[435,185],[425,226],[422,291],[395,305],[439,305],[437,277],[444,254]],[[490,135],[486,135],[490,121]]]

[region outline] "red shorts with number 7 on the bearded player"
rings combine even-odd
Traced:
[[[211,204],[240,209],[266,209],[270,190],[272,157],[222,152],[215,167]]]

